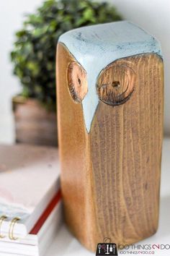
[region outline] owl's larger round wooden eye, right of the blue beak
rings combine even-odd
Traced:
[[[126,65],[109,64],[99,74],[97,93],[99,99],[112,106],[128,101],[133,93],[135,72]]]

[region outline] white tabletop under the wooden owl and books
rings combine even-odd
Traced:
[[[139,244],[139,243],[138,243]],[[161,169],[161,205],[158,231],[140,244],[170,244],[170,138],[164,139]],[[167,246],[168,247],[168,246]],[[164,248],[164,246],[162,246]],[[170,255],[170,249],[155,249],[154,255]],[[127,252],[126,252],[127,253]],[[120,255],[120,253],[118,253]],[[130,253],[131,254],[131,253]],[[65,224],[52,242],[45,256],[90,256],[94,253],[86,250],[68,231]]]

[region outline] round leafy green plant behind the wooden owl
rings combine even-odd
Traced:
[[[85,25],[121,20],[115,7],[90,0],[48,0],[35,14],[28,14],[11,59],[22,83],[21,95],[37,98],[55,109],[55,48],[58,37]]]

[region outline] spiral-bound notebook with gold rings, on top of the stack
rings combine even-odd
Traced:
[[[57,149],[0,145],[0,218],[6,216],[0,221],[3,241],[10,235],[27,236],[58,189]]]

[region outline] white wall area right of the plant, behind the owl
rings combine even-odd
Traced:
[[[164,130],[170,135],[170,1],[109,0],[126,20],[135,22],[161,42],[165,71]]]

